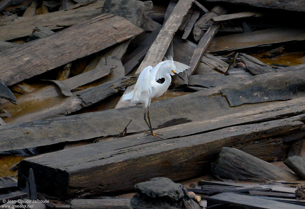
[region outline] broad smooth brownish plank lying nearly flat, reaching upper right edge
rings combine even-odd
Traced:
[[[208,52],[231,51],[293,40],[304,40],[305,30],[295,28],[270,28],[251,33],[214,37]]]

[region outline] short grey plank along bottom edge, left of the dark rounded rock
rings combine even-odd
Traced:
[[[132,209],[130,199],[72,200],[71,209]]]

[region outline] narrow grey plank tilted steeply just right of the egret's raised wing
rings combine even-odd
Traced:
[[[204,33],[203,37],[200,39],[196,49],[194,50],[192,58],[190,60],[190,64],[189,64],[190,68],[188,68],[186,70],[187,77],[192,75],[194,73],[194,71],[196,70],[196,68],[200,62],[200,59],[203,56],[203,53],[206,51],[206,49],[209,46],[209,44],[211,43],[213,37],[218,32],[219,27],[220,26],[218,24],[212,25],[209,28],[209,30],[206,31],[206,33]]]

